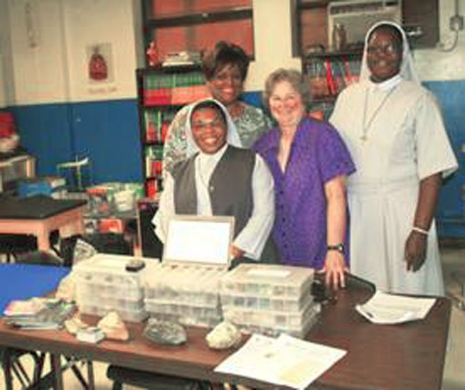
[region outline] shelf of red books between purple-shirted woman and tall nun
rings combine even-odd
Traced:
[[[312,116],[328,119],[339,92],[358,80],[362,47],[345,51],[322,51],[303,58],[302,72],[310,85]]]

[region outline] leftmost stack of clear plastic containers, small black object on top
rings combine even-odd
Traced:
[[[117,311],[123,320],[134,322],[147,318],[142,278],[158,273],[160,263],[144,259],[144,268],[130,272],[126,264],[131,259],[134,257],[96,254],[73,267],[76,301],[81,313],[105,316]]]

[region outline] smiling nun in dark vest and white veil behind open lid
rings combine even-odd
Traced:
[[[274,262],[269,239],[274,220],[273,177],[263,159],[243,149],[226,108],[214,99],[194,104],[187,114],[190,156],[164,180],[155,234],[164,242],[176,214],[234,216],[230,254],[236,261]]]

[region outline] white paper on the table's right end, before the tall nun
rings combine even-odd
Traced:
[[[398,324],[423,320],[428,315],[435,298],[414,298],[376,291],[364,304],[355,309],[367,320],[376,324]]]

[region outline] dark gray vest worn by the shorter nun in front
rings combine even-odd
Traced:
[[[173,168],[176,214],[197,213],[195,157],[196,154]],[[213,215],[234,216],[235,236],[244,228],[252,214],[254,166],[254,152],[229,145],[208,183]]]

